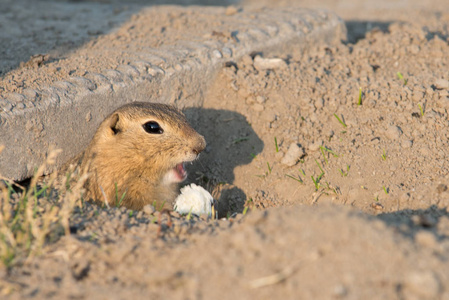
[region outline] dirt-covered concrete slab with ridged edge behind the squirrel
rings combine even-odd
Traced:
[[[55,167],[61,166],[123,104],[200,106],[209,82],[228,61],[254,51],[333,43],[345,34],[342,20],[324,10],[144,9],[67,58],[29,68],[28,77],[22,70],[26,88],[0,94],[0,145],[5,146],[0,173],[15,180],[30,177],[50,146],[63,149]],[[61,69],[71,71],[58,74]]]

